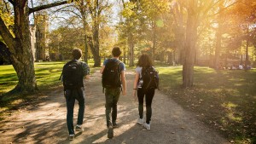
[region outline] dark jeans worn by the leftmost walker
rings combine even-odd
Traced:
[[[78,123],[83,124],[84,121],[84,88],[80,89],[67,89],[65,91],[65,98],[67,103],[67,129],[69,135],[74,135],[73,130],[73,107],[75,100],[79,101],[79,115]]]

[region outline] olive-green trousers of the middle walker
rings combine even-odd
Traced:
[[[109,89],[106,89],[105,91],[107,127],[109,125],[116,124],[117,103],[119,101],[120,93],[121,93],[121,88],[109,88]],[[112,112],[111,112],[111,109],[112,109]]]

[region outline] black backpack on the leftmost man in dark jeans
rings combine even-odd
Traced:
[[[79,89],[83,84],[82,66],[77,60],[71,60],[63,66],[61,73],[64,90],[65,89]]]

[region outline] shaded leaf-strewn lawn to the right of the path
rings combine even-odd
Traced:
[[[182,66],[159,67],[160,89],[236,143],[255,143],[256,70],[195,66],[194,87],[182,89]]]

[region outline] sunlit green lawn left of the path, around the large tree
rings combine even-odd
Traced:
[[[62,85],[61,76],[62,67],[67,61],[49,61],[49,62],[36,62],[35,73],[38,84],[37,95],[4,95],[9,90],[14,89],[18,83],[15,69],[13,66],[0,66],[0,120],[8,115],[9,110],[15,110],[26,101],[37,99],[40,95],[44,95],[56,87]],[[94,72],[97,68],[92,67],[93,61],[89,61],[90,72]]]

